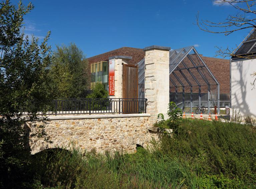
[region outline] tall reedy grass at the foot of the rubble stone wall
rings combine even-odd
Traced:
[[[139,148],[121,151],[41,152],[34,160],[37,178],[44,187],[64,188],[196,188],[197,177],[186,162]]]

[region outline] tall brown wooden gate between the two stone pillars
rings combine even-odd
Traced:
[[[122,112],[138,113],[138,65],[123,64],[122,86]]]

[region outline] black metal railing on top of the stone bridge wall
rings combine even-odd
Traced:
[[[53,101],[52,108],[46,114],[134,114],[147,113],[145,98],[68,98]]]

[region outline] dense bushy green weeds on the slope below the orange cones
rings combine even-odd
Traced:
[[[197,165],[201,174],[256,184],[255,128],[236,123],[184,119],[173,137],[164,136],[161,153]]]

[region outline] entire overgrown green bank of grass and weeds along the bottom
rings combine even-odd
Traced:
[[[185,119],[150,149],[45,150],[21,188],[255,188],[256,133],[247,125]],[[18,187],[17,187],[18,188]]]

